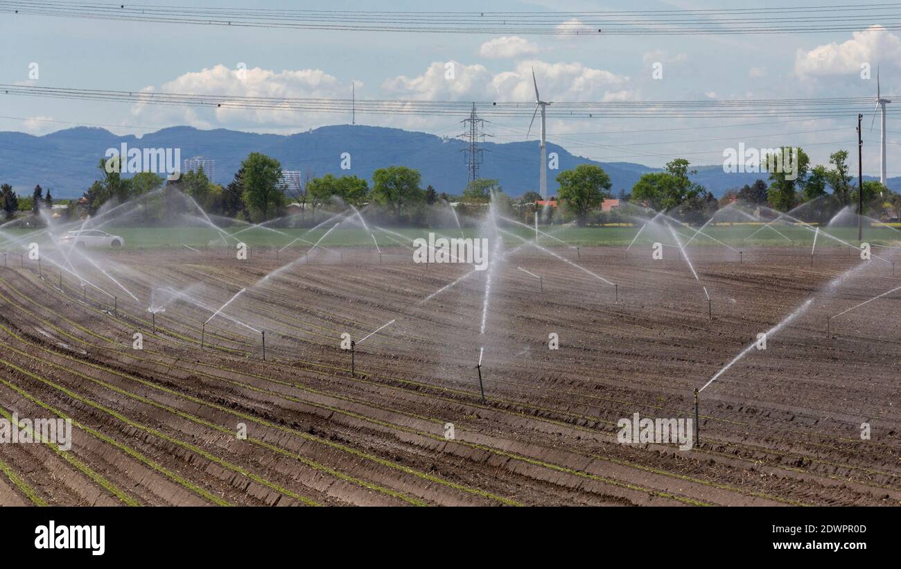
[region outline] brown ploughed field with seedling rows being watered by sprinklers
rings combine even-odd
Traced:
[[[901,285],[901,263],[893,276],[847,248],[823,248],[814,266],[800,249],[750,249],[740,264],[696,248],[696,280],[678,251],[553,251],[618,291],[534,248],[490,276],[487,310],[487,272],[414,265],[403,248],[381,265],[368,249],[309,263],[298,251],[98,252],[122,285],[91,277],[117,295],[113,312],[96,290],[85,302],[74,276],[60,290],[56,267],[39,275],[11,257],[0,267],[0,411],[71,418],[74,439],[69,452],[0,445],[0,504],[901,501],[899,293],[826,330]],[[519,266],[542,275],[543,294]],[[203,306],[169,303],[154,335],[148,299],[163,285]],[[808,299],[766,350],[701,393],[700,447],[616,442],[616,421],[634,412],[693,416],[693,390]],[[355,375],[343,332],[359,342]]]

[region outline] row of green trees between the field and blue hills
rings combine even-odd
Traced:
[[[787,149],[781,149],[787,151]],[[479,178],[469,182],[460,195],[439,194],[431,185],[422,188],[422,176],[409,167],[392,166],[378,168],[370,181],[359,176],[313,177],[307,172],[302,179],[283,176],[281,164],[276,158],[259,152],[251,152],[241,162],[241,167],[228,185],[218,185],[205,174],[203,167],[183,172],[175,180],[155,173],[141,172],[132,177],[122,176],[118,163],[110,164],[101,159],[98,168],[101,176],[84,194],[86,213],[95,215],[109,203],[126,203],[141,198],[140,220],[143,223],[165,223],[169,219],[190,210],[196,203],[205,212],[243,221],[271,221],[286,213],[289,200],[299,207],[301,222],[308,210],[332,205],[361,207],[372,204],[371,214],[381,215],[386,221],[397,224],[431,224],[434,216],[426,206],[436,202],[454,202],[460,213],[478,217],[478,210],[486,203],[496,206],[510,215],[518,215],[523,221],[531,221],[534,212],[543,208],[541,196],[533,191],[513,199],[504,193],[496,179]],[[858,185],[849,171],[848,152],[833,152],[829,164],[810,166],[810,158],[798,149],[796,176],[775,167],[778,155],[763,158],[762,165],[769,171],[767,181],[757,180],[752,185],[728,191],[717,200],[704,186],[691,181],[696,174],[685,158],[669,161],[660,172],[641,176],[631,192],[621,190],[621,203],[635,203],[655,211],[669,211],[686,222],[704,222],[722,206],[734,199],[744,203],[766,205],[773,210],[787,212],[801,203],[815,203],[813,214],[831,216],[842,207],[857,203]],[[600,212],[605,199],[613,198],[612,182],[602,167],[581,164],[564,170],[556,177],[560,189],[550,203],[560,205],[546,212],[551,221],[576,221],[589,223],[623,221],[619,212]],[[769,184],[768,184],[769,182]],[[831,192],[831,193],[830,193]],[[901,196],[889,191],[878,181],[863,183],[865,211],[874,216],[901,209]],[[31,211],[37,215],[41,208],[50,208],[53,198],[41,186],[34,188],[30,197],[17,196],[8,185],[0,186],[0,207],[11,219],[17,211]],[[75,215],[71,207],[68,215]],[[554,211],[556,210],[556,211]],[[895,213],[896,214],[896,213]],[[822,220],[814,220],[822,221]]]

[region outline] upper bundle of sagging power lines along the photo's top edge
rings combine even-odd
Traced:
[[[901,4],[583,12],[378,12],[0,0],[0,13],[118,22],[339,32],[751,35],[901,29]]]

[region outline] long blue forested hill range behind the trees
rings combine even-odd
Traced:
[[[214,158],[214,181],[228,184],[251,151],[268,154],[286,170],[305,171],[314,176],[353,174],[371,180],[372,171],[386,166],[408,166],[423,175],[423,186],[439,192],[460,194],[467,183],[464,163],[466,143],[424,132],[372,126],[335,125],[291,135],[255,134],[216,129],[200,131],[179,126],[144,134],[141,138],[116,136],[100,128],[77,127],[43,136],[22,132],[0,132],[0,183],[12,184],[19,194],[31,194],[34,185],[50,188],[54,197],[73,198],[85,192],[97,177],[97,164],[106,149],[181,149],[181,158]],[[517,196],[538,190],[538,144],[529,142],[486,142],[483,177],[497,178],[507,194]],[[341,170],[341,153],[349,152],[351,169]],[[660,171],[631,162],[595,162],[570,154],[556,144],[560,169],[590,163],[604,167],[613,180],[611,191],[629,191],[642,174]],[[720,167],[698,167],[695,181],[716,195],[751,184],[760,175],[726,174]],[[554,176],[548,176],[548,193],[556,194]],[[901,177],[891,178],[889,187],[901,188]]]

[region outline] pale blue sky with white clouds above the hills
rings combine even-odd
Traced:
[[[144,3],[323,8],[322,2],[258,0]],[[841,4],[838,0],[832,3]],[[773,14],[778,14],[776,7],[785,4],[786,0],[781,0],[761,6],[773,6]],[[640,5],[664,10],[738,8],[747,3],[642,0]],[[378,11],[636,9],[634,1],[619,0],[455,0],[423,6],[394,0],[328,3],[332,10]],[[454,65],[452,80],[445,77],[449,62]],[[861,77],[863,63],[873,69],[869,79]],[[655,65],[662,70],[662,78],[653,77]],[[338,98],[349,97],[354,85],[360,99],[532,101],[534,68],[542,99],[549,101],[872,96],[874,103],[860,109],[865,113],[864,173],[869,175],[878,174],[878,120],[874,129],[869,128],[877,65],[882,94],[896,93],[901,82],[901,37],[896,32],[566,38],[307,32],[0,14],[0,82],[20,85]],[[679,157],[696,165],[721,165],[724,149],[737,148],[740,143],[752,148],[801,146],[815,164],[824,164],[830,153],[846,149],[856,171],[855,114],[821,120],[549,120],[548,140],[579,156],[651,167]],[[463,118],[358,114],[357,123],[456,136]],[[893,131],[892,122],[889,115],[887,170],[888,176],[901,176],[901,126]],[[216,111],[18,96],[0,99],[0,131],[34,135],[75,125],[141,134],[182,124],[287,134],[346,123],[350,116],[336,114]],[[495,142],[522,141],[528,127],[527,119],[506,119],[487,123],[485,131]],[[529,139],[535,137],[533,130]]]

